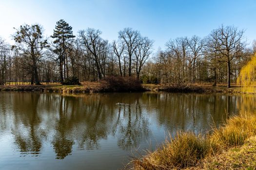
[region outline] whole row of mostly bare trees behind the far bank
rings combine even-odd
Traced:
[[[12,35],[15,44],[0,39],[0,85],[62,83],[74,77],[95,82],[121,76],[142,83],[230,86],[256,49],[256,42],[254,48],[247,47],[244,30],[234,26],[220,26],[205,38],[170,39],[166,49],[155,54],[154,41],[131,28],[119,31],[113,42],[93,28],[75,36],[63,19],[49,38],[42,30],[38,24],[21,25]]]

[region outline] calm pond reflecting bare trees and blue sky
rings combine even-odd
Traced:
[[[0,92],[1,170],[117,170],[180,130],[206,133],[256,96]]]

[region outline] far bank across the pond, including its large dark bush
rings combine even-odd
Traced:
[[[3,91],[41,91],[57,93],[100,93],[100,92],[138,92],[138,91],[166,91],[172,93],[251,93],[244,88],[233,85],[189,85],[172,86],[156,84],[139,84],[134,80],[120,80],[112,78],[101,82],[83,82],[81,85],[0,85]],[[256,93],[256,92],[255,92]],[[253,93],[253,94],[255,94]]]

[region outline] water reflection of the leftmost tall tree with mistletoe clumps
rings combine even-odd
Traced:
[[[14,107],[16,107],[14,109],[15,127],[12,129],[15,142],[19,146],[21,153],[37,155],[42,147],[39,129],[41,120],[37,110],[39,94],[19,94],[13,102]],[[20,125],[20,121],[22,125]]]

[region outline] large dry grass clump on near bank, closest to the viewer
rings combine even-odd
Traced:
[[[170,170],[193,166],[198,160],[217,152],[216,144],[212,142],[209,136],[180,132],[176,137],[166,140],[157,151],[132,161],[133,169]]]

